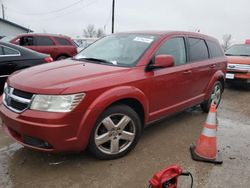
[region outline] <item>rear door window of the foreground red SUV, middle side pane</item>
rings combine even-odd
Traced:
[[[190,61],[200,61],[208,59],[208,49],[204,40],[188,38]]]

